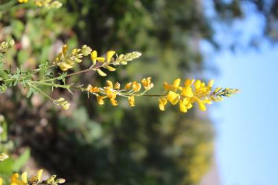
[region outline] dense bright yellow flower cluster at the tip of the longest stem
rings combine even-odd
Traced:
[[[231,88],[225,88],[224,90],[216,88],[212,91],[213,80],[210,80],[207,85],[199,79],[196,82],[194,81],[194,79],[187,79],[184,82],[184,86],[181,86],[181,79],[179,78],[175,79],[172,84],[165,82],[164,89],[167,95],[159,99],[159,109],[165,110],[167,101],[170,101],[172,105],[178,103],[181,112],[187,112],[188,109],[193,107],[193,103],[196,102],[199,109],[205,111],[205,104],[221,101],[222,97],[230,97],[239,91]]]

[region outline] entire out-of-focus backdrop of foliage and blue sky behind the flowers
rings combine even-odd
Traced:
[[[1,0],[0,3],[7,1]],[[135,108],[98,106],[86,94],[64,95],[73,105],[12,88],[0,95],[0,163],[14,170],[65,177],[67,184],[277,184],[277,0],[83,0],[58,10],[16,5],[0,12],[0,40],[14,38],[6,62],[36,68],[60,47],[89,45],[100,53],[141,51],[111,73],[119,82],[152,76],[154,92],[176,77],[216,79],[240,88],[208,112],[160,112],[157,99]],[[76,69],[91,64],[82,62]],[[58,72],[58,69],[57,71]],[[87,73],[69,82],[104,84]]]

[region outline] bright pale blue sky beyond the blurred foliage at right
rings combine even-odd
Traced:
[[[202,45],[207,64],[220,72],[209,74],[215,86],[241,90],[210,108],[217,131],[216,160],[223,185],[273,185],[278,184],[278,46],[265,40],[259,50],[247,49],[251,37],[262,36],[264,21],[252,7],[245,8],[249,12],[244,21],[233,27],[215,25],[220,42],[239,43],[236,52],[214,52]]]

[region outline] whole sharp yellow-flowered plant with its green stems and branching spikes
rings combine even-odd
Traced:
[[[13,42],[7,43],[4,42],[1,44],[0,49],[5,50],[9,45],[12,45]],[[76,71],[73,73],[62,73],[57,77],[49,77],[49,79],[43,78],[41,80],[34,81],[33,75],[38,71],[43,71],[47,74],[47,71],[54,66],[58,66],[62,71],[68,71],[73,68],[75,64],[82,62],[84,56],[91,56],[92,64],[88,69],[82,71]],[[181,112],[187,112],[190,108],[193,107],[194,103],[198,103],[200,110],[206,110],[206,104],[211,104],[213,101],[220,101],[222,97],[230,97],[231,95],[238,93],[237,89],[231,88],[216,88],[212,90],[213,80],[209,81],[206,85],[205,82],[200,80],[187,79],[184,82],[184,85],[181,86],[181,79],[175,79],[172,84],[164,84],[164,93],[159,93],[158,95],[146,94],[146,92],[153,88],[154,84],[152,83],[151,77],[147,77],[141,80],[140,82],[129,82],[124,88],[121,88],[119,82],[113,84],[111,81],[106,81],[106,86],[98,87],[89,84],[87,88],[82,88],[82,84],[75,86],[75,84],[67,84],[67,77],[73,75],[79,75],[81,73],[86,73],[89,71],[96,71],[101,76],[106,76],[106,73],[102,71],[107,69],[108,71],[115,71],[115,66],[125,65],[128,62],[139,58],[141,53],[133,51],[131,53],[120,54],[113,50],[108,51],[105,56],[98,56],[97,51],[91,49],[91,47],[83,45],[81,48],[72,49],[71,52],[68,52],[67,45],[62,47],[62,51],[58,53],[53,64],[49,65],[48,62],[41,64],[38,69],[35,69],[33,73],[21,73],[18,69],[16,73],[9,74],[5,78],[0,78],[4,83],[0,85],[0,92],[5,92],[5,89],[11,84],[14,86],[14,83],[24,84],[23,86],[29,86],[29,91],[27,97],[30,97],[32,93],[41,93],[45,97],[51,99],[54,104],[61,106],[63,109],[67,110],[71,106],[71,103],[66,101],[64,98],[53,99],[49,95],[45,94],[39,86],[51,86],[51,88],[65,88],[72,93],[71,90],[81,90],[88,93],[88,95],[95,95],[97,102],[100,105],[104,105],[104,99],[109,99],[113,106],[117,106],[119,103],[117,97],[124,97],[128,99],[130,106],[135,106],[135,97],[159,97],[159,109],[165,110],[167,102],[170,102],[172,105],[179,105]],[[0,61],[1,62],[1,61]],[[3,63],[3,62],[2,62]],[[62,80],[63,84],[60,84],[58,80]],[[144,89],[144,90],[143,90]]]

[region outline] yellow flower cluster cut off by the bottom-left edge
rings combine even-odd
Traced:
[[[58,178],[56,179],[56,175],[52,175],[47,180],[41,181],[41,176],[43,175],[43,170],[40,169],[34,177],[31,177],[30,180],[27,178],[27,172],[23,172],[21,178],[19,179],[19,173],[14,173],[10,178],[11,185],[58,185],[65,183],[65,179]],[[3,179],[0,178],[0,185],[3,184]]]

